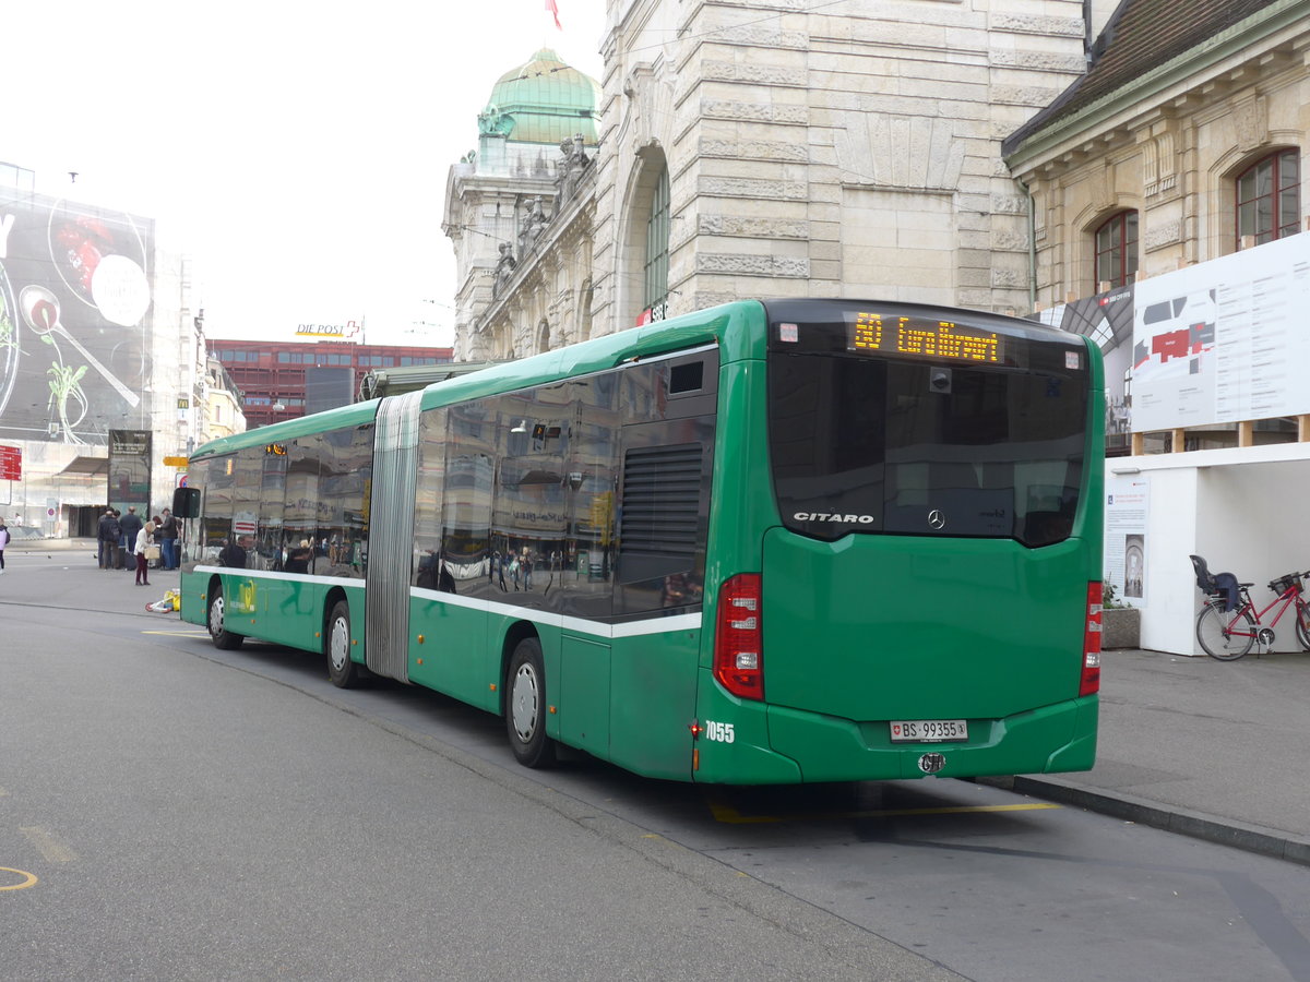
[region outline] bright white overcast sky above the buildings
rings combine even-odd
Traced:
[[[562,30],[546,0],[5,4],[0,161],[153,217],[211,336],[449,344],[445,178],[491,86],[542,46],[600,80],[604,0],[558,5]]]

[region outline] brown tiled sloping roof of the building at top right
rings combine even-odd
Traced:
[[[1006,137],[1003,152],[1279,0],[1123,0],[1086,75]]]

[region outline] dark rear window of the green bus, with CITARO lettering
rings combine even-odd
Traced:
[[[1020,364],[772,351],[769,441],[783,522],[821,539],[1068,538],[1087,374],[1060,371],[1058,357]]]

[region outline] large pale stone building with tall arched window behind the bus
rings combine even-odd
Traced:
[[[452,172],[456,357],[751,296],[1026,309],[1028,200],[1001,140],[1083,72],[1083,0],[811,7],[609,0],[599,147],[572,200],[554,204],[549,168],[500,187]],[[529,195],[550,230],[491,297],[495,253],[458,225],[499,223],[494,250]]]

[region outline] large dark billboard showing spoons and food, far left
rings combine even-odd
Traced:
[[[0,439],[140,424],[155,224],[0,187]]]

